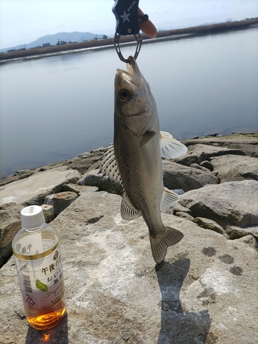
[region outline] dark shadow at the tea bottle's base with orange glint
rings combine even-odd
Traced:
[[[29,326],[25,344],[68,344],[67,314],[61,323],[50,330],[35,330]]]

